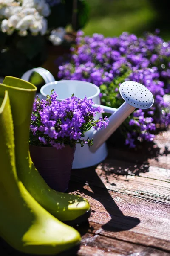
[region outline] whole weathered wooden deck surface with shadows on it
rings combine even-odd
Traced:
[[[138,150],[108,145],[104,162],[72,171],[69,191],[92,209],[77,255],[170,255],[170,131]]]

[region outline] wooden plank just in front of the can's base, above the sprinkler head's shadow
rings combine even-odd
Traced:
[[[170,171],[169,171],[170,172]],[[115,192],[170,203],[170,182],[132,175],[117,175],[102,169],[72,171],[71,180]]]

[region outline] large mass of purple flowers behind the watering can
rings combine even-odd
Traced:
[[[147,33],[144,38],[127,32],[119,37],[104,38],[78,32],[77,46],[72,47],[71,61],[59,67],[59,79],[88,81],[100,87],[103,105],[117,108],[122,98],[119,85],[123,81],[144,84],[154,96],[149,110],[136,110],[121,126],[125,144],[135,147],[136,142],[152,141],[156,124],[165,128],[170,124],[170,104],[164,94],[170,92],[170,43],[157,34]]]

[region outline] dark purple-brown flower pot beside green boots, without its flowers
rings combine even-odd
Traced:
[[[68,189],[75,148],[69,145],[62,149],[29,146],[34,166],[51,189],[61,192]]]

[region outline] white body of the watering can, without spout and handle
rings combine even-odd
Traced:
[[[93,102],[97,105],[100,105],[100,97],[99,97],[99,87],[94,84],[84,82],[84,81],[75,81],[75,80],[62,80],[62,81],[55,81],[46,84],[40,90],[41,92],[41,99],[46,99],[46,95],[50,94],[51,90],[57,92],[59,97],[57,100],[61,101],[62,99],[70,97],[73,93],[74,96],[79,98],[84,98],[87,96],[88,99],[92,99]],[[110,108],[110,111],[114,111],[114,109]],[[99,119],[102,117],[102,113],[96,114],[95,119]],[[90,131],[85,133],[85,138],[92,138],[94,133],[94,128],[91,128]],[[73,161],[73,169],[82,169],[89,166],[94,166],[107,157],[108,151],[106,143],[102,143],[102,145],[95,151],[91,152],[89,150],[88,145],[84,145],[81,147],[80,144],[76,145],[76,150],[74,154],[74,161]]]

